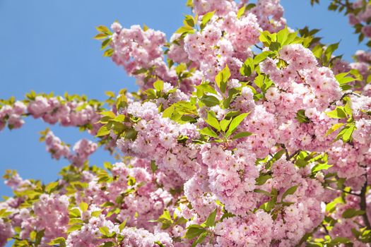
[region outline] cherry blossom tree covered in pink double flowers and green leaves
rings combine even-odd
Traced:
[[[370,3],[329,6],[368,46]],[[371,246],[371,53],[344,61],[279,0],[187,6],[168,41],[97,28],[138,92],[1,100],[0,130],[33,117],[92,138],[41,132],[70,163],[52,183],[6,171],[0,246]],[[117,162],[90,165],[98,148]]]

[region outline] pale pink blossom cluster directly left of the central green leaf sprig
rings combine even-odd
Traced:
[[[182,179],[187,179],[199,170],[196,158],[196,146],[188,141],[187,145],[177,143],[179,135],[185,135],[189,140],[197,138],[196,126],[186,123],[172,123],[170,119],[162,118],[158,107],[152,102],[134,102],[129,105],[127,113],[141,118],[135,123],[138,131],[133,142],[120,139],[117,146],[122,152],[136,157],[153,159],[161,169],[176,171]]]

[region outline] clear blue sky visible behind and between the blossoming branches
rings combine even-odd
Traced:
[[[310,0],[282,0],[285,18],[292,28],[321,28],[326,43],[341,40],[338,54],[346,59],[357,49],[357,36],[346,17],[326,11],[329,0],[310,6]],[[118,19],[124,27],[146,23],[162,30],[170,38],[189,13],[185,0],[0,0],[0,98],[11,95],[23,99],[26,92],[64,92],[86,94],[105,99],[104,91],[121,88],[136,90],[134,79],[125,75],[110,59],[103,58],[100,42],[93,40],[98,25],[110,25]],[[25,179],[57,179],[66,160],[53,160],[39,143],[39,131],[48,125],[37,119],[25,119],[23,128],[0,133],[0,173],[17,169]],[[66,143],[75,143],[89,135],[76,128],[51,126]],[[92,164],[113,161],[100,150]],[[0,181],[0,195],[11,191]]]

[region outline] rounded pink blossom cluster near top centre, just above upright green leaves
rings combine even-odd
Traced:
[[[204,30],[187,35],[184,50],[208,80],[226,64],[234,78],[241,78],[239,68],[252,56],[249,47],[258,42],[260,30],[252,13],[237,18],[235,12],[229,12],[223,18],[214,16]]]

